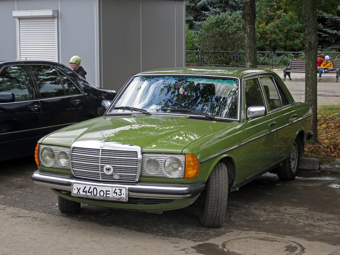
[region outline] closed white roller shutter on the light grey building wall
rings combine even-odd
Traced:
[[[57,61],[56,18],[19,18],[19,59]]]

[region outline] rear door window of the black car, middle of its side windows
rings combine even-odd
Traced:
[[[52,66],[30,66],[42,98],[64,96],[64,88],[57,71]]]

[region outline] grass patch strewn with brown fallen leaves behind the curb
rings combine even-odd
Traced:
[[[318,158],[322,164],[340,160],[340,105],[318,106],[318,140],[306,143],[305,157]]]

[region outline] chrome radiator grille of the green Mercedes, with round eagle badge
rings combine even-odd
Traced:
[[[108,144],[106,147],[111,146]],[[71,169],[73,175],[77,177],[101,181],[135,182],[140,173],[140,157],[138,154],[136,150],[73,146],[71,149]],[[113,174],[104,173],[103,169],[106,165],[113,167]],[[117,176],[119,176],[118,179]]]

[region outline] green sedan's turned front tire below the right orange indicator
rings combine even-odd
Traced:
[[[228,173],[222,163],[212,169],[206,183],[205,202],[200,208],[200,222],[204,227],[221,227],[228,200]]]

